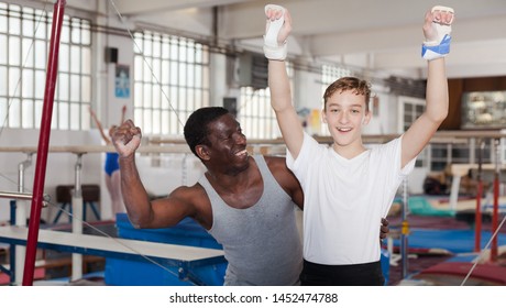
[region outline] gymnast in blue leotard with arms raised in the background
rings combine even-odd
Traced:
[[[94,119],[97,128],[102,136],[102,140],[106,142],[106,145],[112,145],[111,141],[111,132],[113,132],[117,125],[112,125],[109,129],[108,135],[105,134],[102,124],[97,118],[95,111],[89,108],[89,113]],[[121,109],[121,123],[124,122],[124,114],[127,113],[127,106],[123,106]],[[123,205],[123,198],[121,197],[121,177],[120,177],[120,165],[118,162],[119,154],[117,152],[107,152],[106,153],[106,164],[103,169],[106,172],[106,186],[109,191],[109,196],[111,197],[111,210],[112,210],[112,219],[116,220],[116,215],[119,212],[125,212],[125,208]]]

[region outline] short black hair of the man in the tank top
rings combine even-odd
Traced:
[[[185,124],[185,140],[191,152],[198,157],[195,147],[199,144],[210,145],[208,124],[229,113],[223,107],[204,107],[195,110]]]

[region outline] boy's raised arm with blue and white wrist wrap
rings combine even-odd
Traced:
[[[435,7],[425,16],[424,57],[428,59],[426,110],[403,136],[402,167],[429,143],[448,116],[448,80],[444,56],[449,52],[453,10]]]

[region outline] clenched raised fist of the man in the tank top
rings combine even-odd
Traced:
[[[120,157],[130,157],[135,154],[141,144],[141,129],[135,127],[132,120],[127,120],[121,127],[116,128],[111,134],[112,144]]]

